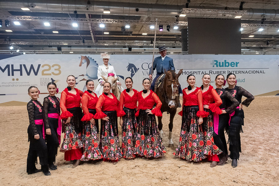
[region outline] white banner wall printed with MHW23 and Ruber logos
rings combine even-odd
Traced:
[[[168,55],[173,58],[176,72],[183,69],[179,77],[182,89],[187,86],[189,74],[196,76],[197,86],[201,86],[204,73],[211,75],[211,85],[215,88],[215,76],[235,73],[237,85],[244,87],[253,95],[268,92],[279,93],[278,55]],[[155,56],[157,57],[157,56]],[[39,100],[47,96],[47,83],[55,82],[62,92],[68,75],[77,78],[76,88],[85,90],[85,81],[93,79],[98,83],[98,64],[103,64],[100,55],[1,55],[0,58],[1,93],[0,103],[9,101],[28,102],[29,86],[37,86],[41,93]],[[152,65],[152,55],[111,55],[109,63],[114,66],[122,87],[124,79],[132,77],[133,87],[142,90],[142,80],[148,77]],[[156,70],[153,77],[156,75]],[[123,79],[124,78],[124,79]],[[60,96],[60,94],[58,94]]]

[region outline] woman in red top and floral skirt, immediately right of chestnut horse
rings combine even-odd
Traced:
[[[178,114],[182,116],[181,133],[178,147],[173,153],[182,159],[199,162],[205,159],[203,141],[203,117],[208,116],[203,110],[202,93],[196,87],[196,78],[187,77],[189,86],[183,89],[183,108]]]

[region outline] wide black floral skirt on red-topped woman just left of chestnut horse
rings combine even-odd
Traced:
[[[135,154],[144,157],[162,157],[166,148],[162,143],[154,114],[139,110],[135,132]]]

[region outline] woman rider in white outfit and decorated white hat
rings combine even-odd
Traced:
[[[115,73],[115,70],[114,70],[113,66],[108,64],[108,60],[110,59],[110,55],[108,55],[106,53],[102,53],[101,58],[103,59],[104,64],[99,65],[99,67],[98,67],[97,76],[98,76],[98,82],[99,83],[98,83],[98,85],[96,87],[96,90],[95,90],[98,97],[103,94],[103,85],[104,85],[105,81],[103,80],[102,76],[107,78],[108,73],[113,73],[114,78],[117,78],[117,75]],[[119,82],[119,80],[117,80],[116,82],[121,87],[121,82]]]

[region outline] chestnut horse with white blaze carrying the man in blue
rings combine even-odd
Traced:
[[[165,78],[161,85],[157,87],[157,95],[162,102],[161,112],[167,112],[170,114],[170,123],[169,123],[169,147],[173,147],[172,142],[172,128],[173,128],[173,118],[176,114],[176,109],[179,102],[178,86],[178,77],[181,75],[183,69],[179,70],[178,74],[175,71],[165,70]],[[162,117],[158,117],[158,129],[160,136],[162,137]]]

